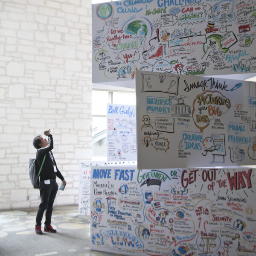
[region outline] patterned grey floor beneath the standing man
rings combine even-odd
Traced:
[[[54,207],[55,234],[35,234],[36,212],[37,209],[0,211],[0,256],[119,255],[90,250],[90,216],[78,215],[77,205]]]

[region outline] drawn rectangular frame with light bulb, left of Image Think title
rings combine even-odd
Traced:
[[[179,76],[169,73],[160,73],[157,75],[146,75],[142,73],[143,85],[141,92],[163,92],[178,95]]]

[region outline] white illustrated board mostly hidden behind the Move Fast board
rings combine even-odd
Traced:
[[[92,166],[122,166],[129,162],[79,161],[79,215],[90,215],[90,172]],[[137,161],[131,163],[137,166]]]

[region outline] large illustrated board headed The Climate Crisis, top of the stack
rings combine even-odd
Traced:
[[[122,86],[134,79],[136,70],[208,76],[256,73],[255,37],[253,0],[93,4],[92,81],[118,81]]]

